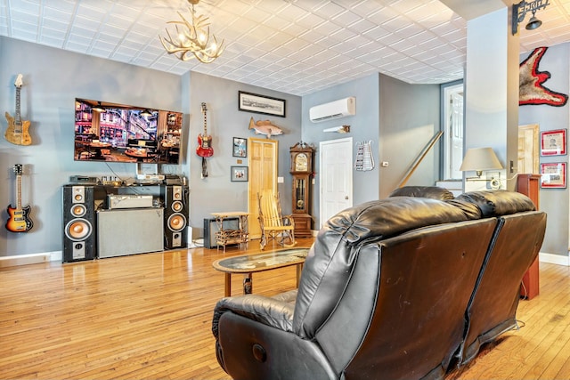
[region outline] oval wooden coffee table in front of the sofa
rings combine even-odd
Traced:
[[[252,291],[251,274],[256,271],[270,271],[272,269],[297,265],[297,287],[309,248],[283,249],[280,251],[264,252],[262,254],[240,255],[216,260],[212,266],[216,271],[225,273],[224,295],[232,295],[232,274],[243,273],[243,293]]]

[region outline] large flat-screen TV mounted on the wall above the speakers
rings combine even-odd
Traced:
[[[183,113],[75,100],[76,161],[178,164]]]

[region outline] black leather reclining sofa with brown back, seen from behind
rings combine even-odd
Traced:
[[[222,368],[249,380],[443,378],[517,327],[546,214],[516,192],[445,191],[347,209],[319,231],[297,290],[220,300]]]

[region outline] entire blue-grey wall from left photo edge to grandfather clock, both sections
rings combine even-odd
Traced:
[[[0,256],[61,251],[61,186],[70,175],[118,176],[133,181],[136,166],[121,163],[75,162],[73,130],[75,98],[86,98],[172,109],[184,113],[183,154],[180,166],[162,166],[165,174],[183,174],[191,186],[191,226],[194,238],[202,236],[203,219],[209,213],[247,208],[248,182],[231,182],[232,137],[251,137],[249,118],[270,118],[285,134],[279,141],[279,184],[285,213],[291,209],[289,147],[300,141],[301,98],[230,80],[188,72],[183,76],[143,69],[125,63],[69,53],[39,44],[0,37],[0,109],[13,116],[16,76],[21,73],[21,115],[31,120],[33,146],[0,141],[0,198],[6,206],[15,203],[12,167],[24,165],[22,202],[30,204],[33,230],[15,234],[0,229]],[[270,117],[238,110],[238,91],[285,99],[286,117]],[[201,158],[196,153],[197,136],[203,132],[201,102],[208,105],[208,133],[213,135],[215,155],[208,158],[208,179],[200,179]],[[7,122],[0,121],[5,131]],[[256,137],[264,137],[257,135]],[[247,158],[244,164],[247,166]],[[152,170],[152,168],[151,168]],[[140,189],[139,191],[144,191]],[[8,215],[3,212],[3,220]]]

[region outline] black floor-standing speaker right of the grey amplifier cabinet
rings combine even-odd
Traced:
[[[188,186],[167,185],[164,191],[164,247],[187,247],[190,190]]]

